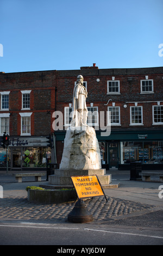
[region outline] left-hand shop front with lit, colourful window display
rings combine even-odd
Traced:
[[[7,167],[6,149],[0,150],[0,170]],[[32,170],[46,168],[51,163],[51,148],[46,137],[10,137],[8,147],[9,170]]]

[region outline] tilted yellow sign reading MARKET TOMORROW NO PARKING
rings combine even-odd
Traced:
[[[78,198],[105,196],[97,175],[71,176]]]

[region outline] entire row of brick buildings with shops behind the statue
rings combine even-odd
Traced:
[[[87,88],[88,124],[95,127],[102,166],[127,169],[131,161],[139,161],[144,169],[162,168],[163,68],[98,69],[95,64],[80,70],[0,74],[0,127],[1,136],[4,129],[10,135],[10,168],[45,167],[45,153],[55,161],[46,137],[53,132],[56,111],[63,116],[63,125],[54,131],[60,163],[79,74]],[[108,113],[111,133],[102,135]]]

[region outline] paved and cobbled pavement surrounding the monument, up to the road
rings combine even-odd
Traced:
[[[111,171],[109,172],[111,173]],[[119,175],[120,174],[120,175]],[[65,223],[74,202],[62,204],[34,204],[27,200],[27,186],[46,184],[46,176],[41,182],[34,177],[24,177],[22,183],[15,181],[12,173],[0,173],[3,198],[0,198],[0,222],[30,221],[43,223]],[[92,212],[94,224],[134,225],[155,227],[163,231],[163,184],[129,180],[129,172],[112,171],[112,180],[120,182],[120,187],[105,189],[104,197],[87,200],[87,209]],[[162,185],[162,193],[159,186]]]

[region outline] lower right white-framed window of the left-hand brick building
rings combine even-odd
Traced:
[[[32,113],[19,113],[21,115],[21,136],[31,134],[30,116]]]

